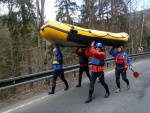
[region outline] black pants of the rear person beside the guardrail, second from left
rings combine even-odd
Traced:
[[[91,78],[91,76],[89,74],[89,67],[88,66],[86,66],[86,67],[80,67],[80,69],[79,69],[79,85],[81,85],[83,72],[86,73],[86,75],[88,76],[89,80]]]

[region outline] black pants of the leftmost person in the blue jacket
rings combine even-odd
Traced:
[[[57,80],[58,76],[65,83],[65,86],[68,87],[68,82],[64,77],[64,71],[63,70],[56,70],[56,71],[54,71],[54,74],[53,74],[53,83],[52,83],[52,91],[53,92],[55,91],[56,80]]]

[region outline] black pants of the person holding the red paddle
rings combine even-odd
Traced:
[[[120,74],[122,75],[122,79],[129,85],[129,80],[127,79],[126,71],[124,69],[115,69],[116,74],[116,84],[117,87],[120,88]]]

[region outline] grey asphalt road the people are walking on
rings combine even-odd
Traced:
[[[117,94],[114,70],[105,72],[111,93],[107,99],[104,98],[104,88],[96,83],[93,101],[84,103],[89,90],[89,81],[85,79],[81,88],[74,86],[54,95],[44,93],[2,108],[0,113],[150,113],[150,60],[134,63],[133,69],[140,73],[140,77],[134,78],[128,70],[131,89],[127,90],[121,79],[122,91]]]

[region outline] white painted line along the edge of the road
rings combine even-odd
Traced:
[[[134,63],[133,65],[137,65],[137,64],[140,64],[140,63],[142,63],[142,62],[144,62],[144,61]],[[110,74],[110,73],[112,73],[112,72],[114,72],[114,70],[108,71],[108,72],[106,72],[105,74]],[[86,81],[85,81],[85,82],[86,82]],[[17,109],[20,109],[20,108],[23,108],[23,107],[25,107],[25,106],[31,105],[31,104],[33,104],[33,103],[35,103],[35,102],[37,102],[37,101],[43,100],[43,99],[45,99],[45,98],[47,98],[47,97],[49,97],[49,95],[43,96],[43,97],[41,97],[41,98],[39,98],[39,99],[36,99],[36,100],[34,100],[34,101],[30,101],[30,102],[28,102],[28,103],[26,103],[26,104],[22,104],[22,105],[20,105],[20,106],[17,106],[17,107],[15,107],[15,108],[12,108],[12,109],[10,109],[10,110],[8,110],[8,111],[4,111],[4,112],[2,112],[2,113],[10,113],[10,112],[13,112],[13,111],[15,111],[15,110],[17,110]]]

